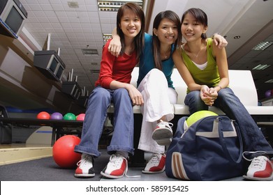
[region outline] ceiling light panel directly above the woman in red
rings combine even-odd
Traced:
[[[142,0],[133,1],[133,0],[98,0],[98,10],[100,11],[114,11],[117,12],[120,6],[124,5],[125,3],[136,3],[140,7],[142,7]]]

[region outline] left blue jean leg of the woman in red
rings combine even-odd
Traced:
[[[81,141],[79,145],[75,146],[75,152],[87,153],[95,157],[101,155],[98,152],[98,141],[101,138],[110,102],[110,91],[100,86],[94,88],[89,96],[85,112]]]

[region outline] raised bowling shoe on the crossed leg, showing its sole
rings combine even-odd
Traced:
[[[158,145],[170,145],[170,142],[172,141],[172,123],[160,120],[152,133],[152,139],[154,139]]]

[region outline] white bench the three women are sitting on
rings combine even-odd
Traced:
[[[256,91],[256,86],[253,81],[250,70],[228,70],[230,77],[230,88],[239,100],[241,100],[244,107],[251,116],[273,116],[273,107],[270,106],[258,106],[258,95]],[[134,68],[132,72],[131,84],[136,86],[136,81],[138,80],[138,67]],[[174,68],[172,72],[172,81],[175,90],[178,93],[177,104],[174,104],[175,115],[189,115],[189,107],[184,104],[184,99],[186,97],[186,84],[179,72]],[[112,110],[113,108],[111,108]],[[216,114],[224,114],[220,109],[216,107],[209,107],[210,111],[216,112]],[[113,110],[112,110],[113,111]],[[134,114],[141,114],[140,107],[133,107]]]

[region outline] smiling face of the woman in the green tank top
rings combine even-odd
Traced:
[[[187,42],[201,38],[202,33],[206,33],[207,26],[200,24],[191,13],[186,13],[181,26],[182,36]]]

